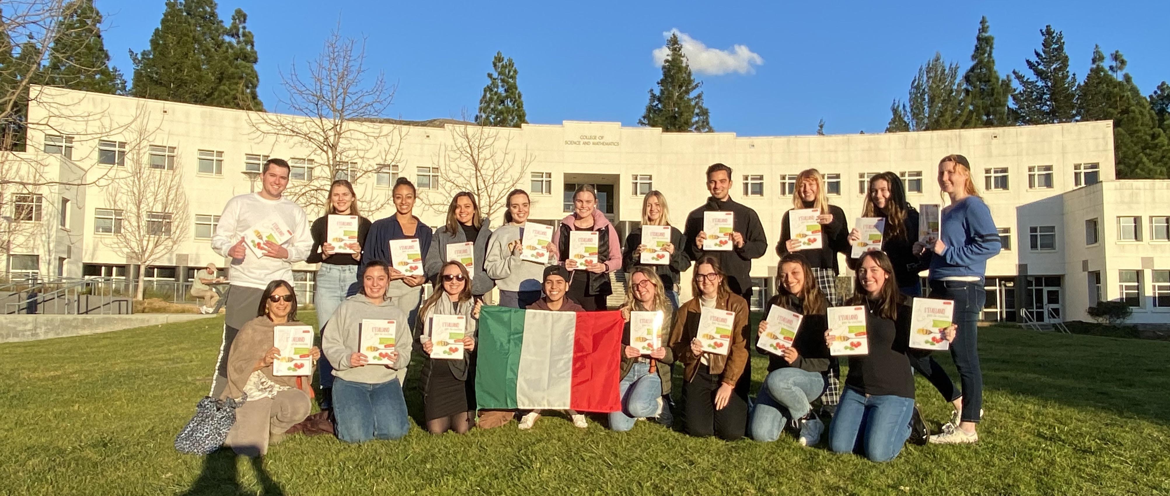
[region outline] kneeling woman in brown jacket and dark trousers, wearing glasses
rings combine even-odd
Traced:
[[[695,263],[693,291],[696,296],[679,308],[670,331],[670,347],[684,366],[687,430],[734,441],[748,429],[748,302],[728,289],[727,274],[710,256]],[[727,356],[703,352],[696,338],[703,308],[735,314]]]

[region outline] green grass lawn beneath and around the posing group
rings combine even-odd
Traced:
[[[908,446],[885,464],[801,448],[792,436],[723,442],[653,422],[613,433],[591,421],[580,430],[562,418],[530,432],[514,425],[432,436],[414,428],[400,441],[362,446],[291,436],[254,464],[225,450],[183,455],[172,445],[207,393],[222,322],[0,345],[8,376],[0,388],[0,492],[1170,494],[1164,342],[983,328],[982,441]],[[952,370],[949,356],[938,358]],[[755,357],[757,387],[765,366]],[[420,395],[408,386],[407,404],[420,414]],[[921,378],[917,394],[937,428],[949,406]]]

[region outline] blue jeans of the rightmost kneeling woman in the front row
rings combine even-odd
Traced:
[[[828,428],[828,449],[875,462],[894,460],[910,438],[913,414],[911,398],[868,395],[846,387]]]

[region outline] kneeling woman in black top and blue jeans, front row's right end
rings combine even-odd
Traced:
[[[869,354],[849,357],[849,374],[828,429],[828,443],[837,453],[859,453],[886,462],[897,456],[910,436],[914,372],[908,356],[929,351],[909,347],[910,306],[899,292],[889,257],[868,252],[858,263],[856,296],[848,304],[866,306]],[[955,329],[954,324],[944,329],[943,337],[952,340]],[[830,340],[825,331],[826,345]]]

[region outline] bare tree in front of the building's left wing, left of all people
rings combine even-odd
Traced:
[[[157,131],[158,126],[142,120],[123,135],[126,138],[125,168],[116,172],[104,188],[105,206],[116,212],[113,233],[106,246],[125,256],[128,262],[140,266],[138,299],[145,290],[146,268],[174,253],[191,228],[183,166],[151,163],[150,145]]]

